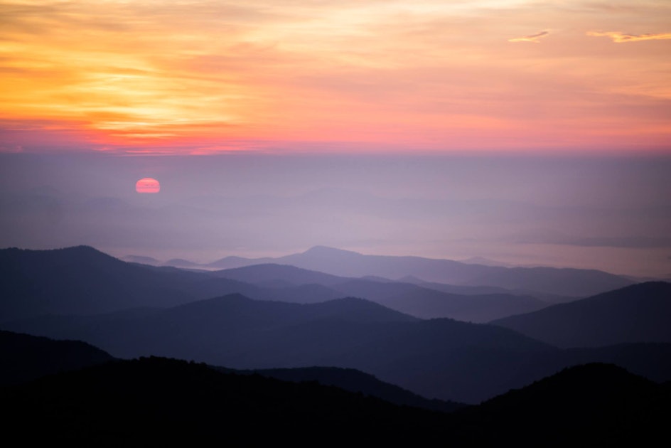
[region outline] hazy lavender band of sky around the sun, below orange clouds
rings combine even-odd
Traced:
[[[303,252],[671,278],[671,158],[1,154],[0,247],[211,262]],[[136,181],[160,181],[136,193]]]

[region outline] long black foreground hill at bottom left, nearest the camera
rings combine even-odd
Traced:
[[[119,361],[2,393],[4,436],[77,446],[259,446],[319,437],[424,440],[444,414],[317,383],[219,373],[166,358]],[[36,430],[38,428],[39,430]],[[393,431],[391,431],[393,430]],[[317,439],[315,438],[317,437]]]

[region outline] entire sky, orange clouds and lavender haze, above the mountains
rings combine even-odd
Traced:
[[[670,54],[665,0],[0,0],[0,247],[671,277]]]

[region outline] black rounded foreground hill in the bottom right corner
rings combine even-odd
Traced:
[[[666,433],[670,398],[669,388],[591,363],[510,390],[460,417],[464,427],[488,428],[469,437],[481,446],[651,446]]]

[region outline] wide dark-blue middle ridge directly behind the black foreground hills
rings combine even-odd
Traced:
[[[4,326],[80,339],[121,358],[168,356],[246,369],[357,368],[425,397],[468,403],[591,361],[671,379],[668,343],[561,350],[500,326],[417,319],[353,298],[290,304],[230,294],[167,309],[42,316]]]

